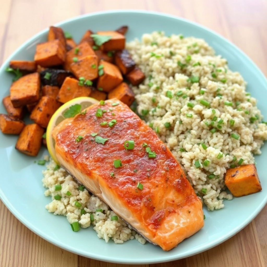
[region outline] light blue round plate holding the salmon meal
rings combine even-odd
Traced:
[[[183,34],[204,38],[217,54],[229,62],[232,70],[242,74],[248,82],[248,91],[258,99],[258,108],[267,118],[267,81],[257,66],[236,46],[218,34],[195,23],[166,14],[144,11],[111,11],[94,13],[62,23],[64,31],[70,32],[76,41],[85,30],[112,30],[128,25],[127,40],[140,38],[143,33],[163,30],[166,35]],[[50,26],[50,25],[48,25]],[[11,59],[33,60],[35,45],[46,40],[48,29],[31,38],[17,49],[0,69],[0,98],[9,94],[12,76],[5,72]],[[245,40],[244,40],[245,41]],[[0,113],[5,113],[3,105]],[[177,260],[210,249],[230,238],[244,228],[262,210],[267,202],[266,158],[267,146],[262,155],[256,156],[257,170],[262,191],[232,201],[225,201],[225,208],[208,212],[205,210],[205,226],[197,234],[183,241],[175,249],[164,252],[157,246],[141,245],[136,240],[116,245],[98,239],[92,227],[73,232],[66,218],[54,216],[45,209],[50,199],[44,197],[42,169],[34,163],[48,152],[43,149],[37,158],[20,154],[15,150],[17,137],[0,133],[0,197],[8,209],[30,230],[47,241],[85,257],[124,264],[147,264]]]

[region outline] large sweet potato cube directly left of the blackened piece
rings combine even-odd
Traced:
[[[10,87],[10,100],[15,108],[38,101],[40,98],[40,75],[38,72],[22,76]]]

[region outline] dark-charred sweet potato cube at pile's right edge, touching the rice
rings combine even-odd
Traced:
[[[118,66],[118,68],[124,75],[129,73],[135,67],[135,62],[132,59],[131,54],[126,49],[116,51],[114,59],[115,64]]]

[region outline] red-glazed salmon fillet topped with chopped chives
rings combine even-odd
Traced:
[[[61,166],[148,241],[171,250],[203,227],[202,202],[181,166],[119,100],[65,119],[52,136]]]

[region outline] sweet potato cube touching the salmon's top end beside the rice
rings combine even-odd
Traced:
[[[134,101],[134,93],[127,83],[121,83],[108,93],[108,99],[117,98],[130,106]]]

